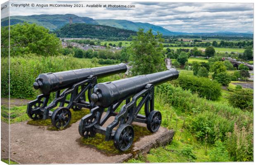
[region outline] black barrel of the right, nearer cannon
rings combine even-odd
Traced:
[[[91,98],[97,106],[107,108],[113,103],[140,92],[147,84],[159,85],[175,80],[178,76],[178,71],[171,68],[168,71],[99,83],[95,85]]]

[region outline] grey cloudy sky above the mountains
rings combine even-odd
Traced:
[[[31,1],[10,1],[11,4]],[[35,3],[35,2],[34,2]],[[135,5],[135,8],[96,7],[12,7],[11,15],[76,14],[92,19],[126,19],[162,26],[170,31],[216,32],[253,31],[252,3],[174,3],[174,2],[68,2],[37,1],[35,4]]]

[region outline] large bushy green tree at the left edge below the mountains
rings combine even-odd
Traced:
[[[1,53],[5,57],[9,49],[9,26],[1,27]],[[15,24],[10,26],[11,56],[35,53],[42,56],[57,55],[61,52],[61,41],[55,34],[36,24]]]

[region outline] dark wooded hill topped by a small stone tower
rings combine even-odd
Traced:
[[[115,28],[104,25],[92,24],[66,24],[62,28],[54,31],[61,38],[128,38],[136,35],[135,31]]]

